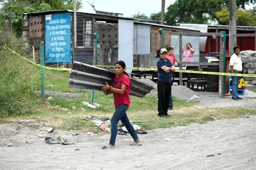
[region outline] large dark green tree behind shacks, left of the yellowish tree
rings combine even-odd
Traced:
[[[255,4],[256,0],[236,0],[236,5],[244,9],[245,5]],[[176,0],[167,8],[165,21],[168,25],[176,23],[208,24],[216,21],[216,12],[228,7],[229,0]]]

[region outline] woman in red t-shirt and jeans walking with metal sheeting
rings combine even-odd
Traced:
[[[114,106],[115,113],[111,118],[111,135],[109,143],[102,147],[102,149],[112,149],[115,148],[115,139],[118,133],[118,121],[121,120],[125,128],[128,130],[129,134],[133,137],[133,146],[141,146],[138,135],[130,123],[126,111],[128,110],[131,100],[129,93],[131,90],[131,80],[129,75],[125,72],[125,62],[118,61],[115,63],[115,73],[113,77],[112,85],[103,85],[101,88],[105,95],[113,94],[114,96]]]

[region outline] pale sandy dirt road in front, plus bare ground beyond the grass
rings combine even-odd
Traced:
[[[184,99],[198,95],[197,107],[256,108],[256,94],[251,91],[234,101],[216,93],[173,89],[174,96]],[[138,134],[142,146],[130,146],[131,136],[118,135],[116,149],[106,150],[101,146],[108,143],[109,134],[73,136],[74,132],[56,129],[52,135],[75,144],[50,145],[39,137],[49,136],[45,124],[24,121],[19,128],[0,124],[0,170],[255,170],[255,122],[256,116],[244,116],[151,130]]]

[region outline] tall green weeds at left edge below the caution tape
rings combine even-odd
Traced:
[[[8,34],[7,45],[24,55],[23,41]],[[33,107],[33,77],[28,73],[29,66],[19,56],[3,49],[3,32],[0,32],[0,117],[16,117],[30,112]]]

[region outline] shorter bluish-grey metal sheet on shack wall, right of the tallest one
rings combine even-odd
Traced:
[[[133,27],[133,54],[150,53],[150,26],[134,24]]]

